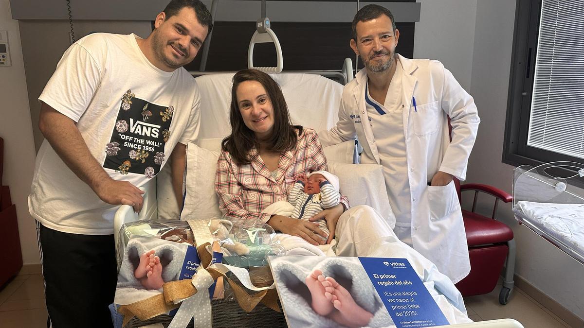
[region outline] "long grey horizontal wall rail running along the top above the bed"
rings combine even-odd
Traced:
[[[158,0],[70,0],[74,20],[152,20],[164,9],[166,2]],[[204,4],[211,8],[211,1]],[[420,4],[413,0],[363,2],[390,8],[397,22],[418,22]],[[68,19],[64,0],[11,0],[12,18]],[[267,16],[274,22],[350,22],[357,11],[356,1],[267,1]],[[255,22],[261,16],[261,2],[221,0],[215,19],[230,22]]]

